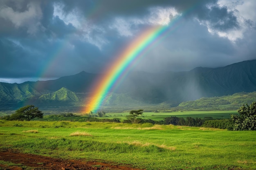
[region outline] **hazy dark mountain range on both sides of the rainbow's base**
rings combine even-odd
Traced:
[[[43,108],[86,106],[85,100],[98,74],[82,71],[55,80],[0,83],[0,110],[13,110],[25,104]],[[256,60],[220,68],[197,67],[186,72],[132,72],[106,97],[103,106],[140,106],[181,102],[256,91]]]

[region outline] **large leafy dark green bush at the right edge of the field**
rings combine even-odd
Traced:
[[[256,102],[238,109],[239,115],[231,115],[234,130],[256,130]]]

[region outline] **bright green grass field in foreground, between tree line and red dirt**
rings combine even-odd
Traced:
[[[0,150],[132,164],[147,170],[254,170],[255,147],[255,131],[152,124],[0,120]]]

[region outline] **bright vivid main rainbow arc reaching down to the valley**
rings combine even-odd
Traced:
[[[174,23],[173,20],[172,23]],[[127,48],[118,55],[117,60],[105,71],[93,85],[92,93],[89,100],[85,104],[83,112],[89,113],[90,111],[97,111],[104,99],[118,82],[128,74],[129,68],[143,56],[144,53],[158,40],[161,35],[168,33],[174,28],[169,26],[154,26],[145,30],[139,37],[132,41]]]

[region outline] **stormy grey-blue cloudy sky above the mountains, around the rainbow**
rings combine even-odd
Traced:
[[[256,59],[255,0],[1,0],[0,82],[104,73],[141,33],[167,26],[132,70]]]

